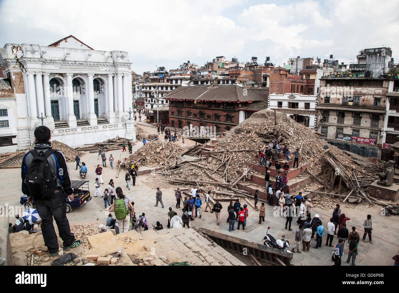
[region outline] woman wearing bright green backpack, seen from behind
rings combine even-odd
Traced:
[[[123,194],[122,188],[117,187],[115,192],[117,193],[115,201],[105,210],[115,212],[115,218],[117,218],[120,233],[128,232],[130,224],[130,210],[133,211],[134,208],[130,199]],[[128,209],[129,206],[130,210]]]

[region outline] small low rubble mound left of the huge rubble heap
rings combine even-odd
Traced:
[[[147,167],[166,166],[172,163],[176,155],[184,150],[185,148],[178,144],[156,140],[147,142],[144,146],[140,147],[129,156],[128,161],[134,162],[143,159],[140,165]]]

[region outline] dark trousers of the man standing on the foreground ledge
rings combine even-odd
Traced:
[[[67,218],[67,201],[65,193],[59,191],[58,196],[50,199],[35,199],[36,210],[41,218],[41,233],[45,246],[50,253],[58,252],[57,234],[55,234],[53,218],[58,227],[58,234],[63,246],[71,246],[75,236],[71,233]]]

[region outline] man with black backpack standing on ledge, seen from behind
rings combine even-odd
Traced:
[[[53,226],[53,218],[63,241],[63,249],[70,250],[81,244],[71,233],[67,219],[67,201],[74,200],[71,178],[65,157],[61,151],[53,149],[49,142],[51,133],[46,126],[34,131],[35,146],[22,158],[22,193],[33,197],[36,210],[41,218],[41,232],[50,256],[58,253],[58,239]]]

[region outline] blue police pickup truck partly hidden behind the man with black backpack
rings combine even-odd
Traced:
[[[69,202],[69,198],[67,197],[67,213],[71,212],[72,207],[84,206],[91,201],[88,180],[72,180],[71,183],[73,189],[72,193],[75,199]],[[28,197],[26,195],[23,195],[20,199],[20,203],[25,206],[25,209],[35,208],[34,200],[31,199],[31,201],[32,202],[28,203]]]

